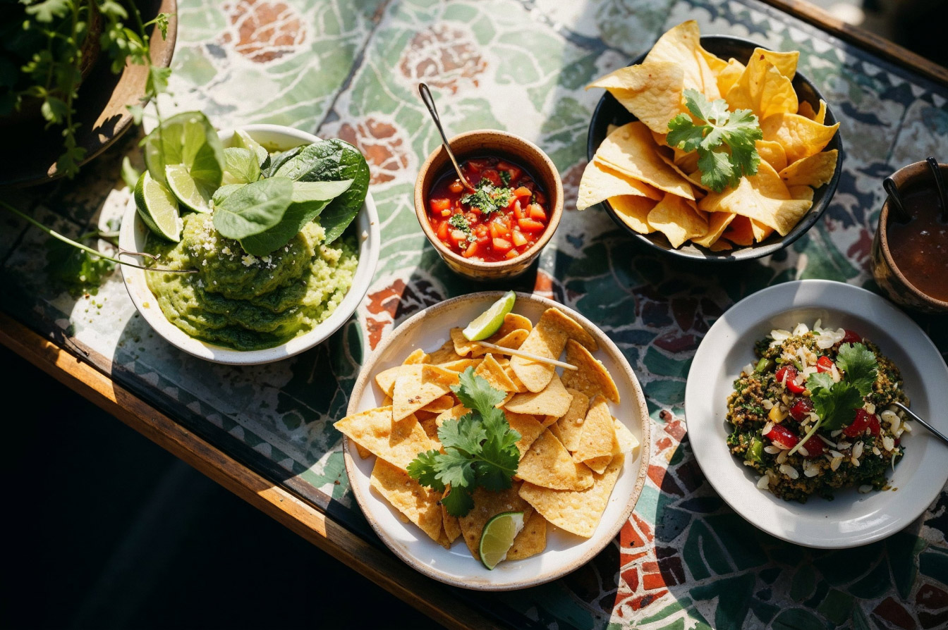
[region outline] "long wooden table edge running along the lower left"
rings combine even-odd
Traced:
[[[432,588],[428,578],[393,555],[369,545],[5,313],[0,313],[0,344],[434,621],[451,628],[496,627],[437,586]]]

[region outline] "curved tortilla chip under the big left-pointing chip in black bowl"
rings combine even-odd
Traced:
[[[595,159],[614,171],[656,189],[694,199],[691,185],[655,153],[655,144],[642,122],[629,122],[612,132],[596,150]]]

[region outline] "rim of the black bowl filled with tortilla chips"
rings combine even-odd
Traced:
[[[748,45],[752,49],[756,47],[765,48],[767,50],[770,49],[770,48],[766,48],[766,46],[758,44],[757,42],[754,42],[753,40],[749,40],[746,37],[737,37],[734,35],[702,35],[702,38],[701,38],[702,44],[704,44],[705,42],[715,42],[715,41],[739,43],[743,45]],[[636,65],[638,63],[642,63],[645,60],[647,54],[648,52],[642,53],[641,55],[636,57],[634,61],[629,63],[629,65]],[[810,86],[810,88],[813,91],[813,94],[816,96],[816,99],[823,100],[827,103],[827,115],[826,115],[827,118],[826,119],[830,121],[830,124],[838,122],[836,117],[833,116],[832,114],[832,109],[830,109],[830,102],[823,98],[822,92],[820,92],[820,90],[817,89],[815,83],[810,81],[810,79],[808,79],[806,75],[802,74],[799,71],[796,72],[795,78],[799,78],[800,81],[803,81],[808,86]],[[609,92],[606,92],[605,94],[603,94],[602,98],[599,99],[599,102],[596,103],[595,109],[593,110],[593,117],[590,118],[589,131],[587,132],[587,138],[586,138],[586,158],[590,162],[593,161],[593,155],[595,155],[595,150],[599,148],[598,145],[593,146],[593,142],[594,142],[593,130],[596,127],[595,123],[596,123],[597,118],[602,116],[601,111],[603,107],[606,105],[606,103],[609,101],[609,99],[614,99]],[[629,113],[629,116],[632,116],[632,115]],[[634,116],[632,117],[635,118]],[[635,119],[637,120],[638,118],[635,118]],[[813,225],[816,224],[817,221],[819,221],[820,217],[823,216],[823,213],[826,212],[827,207],[830,206],[830,201],[832,200],[832,197],[836,192],[836,188],[839,185],[839,178],[843,171],[843,159],[845,157],[845,153],[843,151],[843,136],[840,133],[839,129],[836,130],[836,135],[834,135],[834,139],[836,140],[836,144],[837,144],[836,149],[839,151],[839,157],[836,160],[836,169],[835,171],[833,171],[832,177],[830,178],[830,182],[825,187],[826,189],[825,189],[825,192],[823,193],[823,196],[820,198],[820,200],[817,203],[813,205],[813,207],[810,208],[810,210],[807,212],[806,215],[804,215],[804,217],[799,221],[799,223],[793,226],[793,229],[787,234],[787,236],[779,238],[774,243],[766,243],[765,241],[764,243],[766,244],[760,244],[760,245],[757,245],[756,247],[739,247],[737,249],[732,249],[727,252],[712,252],[711,250],[705,247],[702,247],[698,251],[685,251],[682,249],[675,249],[671,247],[670,243],[667,246],[663,246],[661,243],[655,243],[654,241],[649,239],[647,235],[640,234],[639,232],[636,232],[635,230],[630,228],[629,225],[626,225],[616,215],[615,210],[612,208],[612,205],[609,203],[608,199],[606,201],[601,202],[600,205],[606,208],[606,212],[609,214],[609,216],[611,217],[615,225],[618,225],[620,228],[625,230],[627,233],[629,233],[630,236],[633,236],[639,241],[643,243],[647,243],[648,246],[654,249],[657,249],[659,251],[662,251],[665,254],[668,254],[671,256],[676,256],[678,258],[683,258],[690,261],[708,261],[708,262],[752,261],[758,258],[763,258],[765,256],[771,256],[775,252],[781,249],[784,249],[785,247],[789,246],[794,241],[799,239],[801,236],[803,236]],[[814,191],[814,194],[815,194],[815,191]],[[774,236],[771,236],[769,239],[767,239],[767,241],[770,241],[774,238],[775,238]]]

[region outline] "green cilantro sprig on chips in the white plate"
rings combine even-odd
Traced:
[[[464,516],[474,507],[472,493],[478,486],[490,491],[510,487],[517,473],[520,433],[510,428],[497,405],[504,392],[490,387],[473,368],[465,369],[458,385],[451,387],[469,413],[448,420],[438,429],[444,452],[430,450],[411,460],[409,475],[437,492],[450,491],[441,500],[447,513]]]

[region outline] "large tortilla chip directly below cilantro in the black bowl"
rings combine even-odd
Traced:
[[[780,236],[786,236],[811,206],[809,201],[792,199],[774,167],[767,162],[760,162],[756,175],[741,177],[736,188],[709,192],[698,204],[707,212],[733,212],[770,225]],[[736,228],[735,223],[728,226],[728,230]],[[727,234],[725,231],[725,238],[730,239]]]

